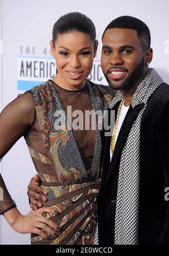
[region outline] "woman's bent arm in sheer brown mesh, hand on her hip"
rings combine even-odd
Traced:
[[[11,149],[20,137],[24,136],[32,127],[35,119],[35,107],[31,93],[25,93],[8,104],[0,114],[0,159]],[[0,175],[0,214],[20,233],[35,233],[47,238],[47,233],[55,234],[59,228],[50,219],[42,216],[45,212],[56,214],[54,209],[41,208],[22,215],[16,209],[6,185]]]

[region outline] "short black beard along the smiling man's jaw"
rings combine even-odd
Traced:
[[[143,72],[144,72],[144,57],[141,60],[140,64],[135,68],[135,70],[127,77],[127,79],[122,84],[120,84],[120,82],[119,82],[119,85],[113,84],[112,81],[109,79],[109,77],[105,75],[105,73],[104,73],[104,76],[112,89],[129,90],[140,80],[141,76],[143,76]]]

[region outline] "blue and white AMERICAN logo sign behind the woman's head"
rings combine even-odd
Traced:
[[[55,59],[52,57],[17,57],[17,89],[30,90],[36,85],[52,79],[56,74]],[[107,84],[101,70],[100,60],[94,60],[88,79],[96,84]]]

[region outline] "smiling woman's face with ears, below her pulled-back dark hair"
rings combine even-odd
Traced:
[[[90,36],[77,31],[59,34],[55,47],[51,41],[58,71],[55,83],[68,90],[81,89],[92,70],[97,45]]]

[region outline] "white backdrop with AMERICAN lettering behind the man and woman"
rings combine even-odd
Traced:
[[[0,107],[18,94],[54,77],[55,62],[50,39],[55,21],[70,11],[90,17],[97,31],[99,49],[90,79],[107,84],[100,66],[101,36],[109,22],[131,15],[143,20],[152,34],[154,67],[169,83],[169,2],[168,0],[0,0]],[[1,120],[0,120],[1,122]],[[0,171],[21,213],[28,213],[27,186],[35,175],[32,159],[21,138],[3,158]],[[13,231],[1,217],[1,244],[30,244],[30,235]]]

